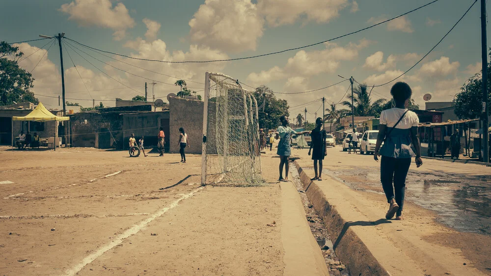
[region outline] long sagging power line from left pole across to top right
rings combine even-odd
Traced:
[[[417,7],[415,9],[412,9],[408,12],[405,12],[399,16],[396,16],[396,17],[393,17],[393,18],[390,18],[390,19],[387,19],[387,20],[384,20],[380,23],[377,23],[377,24],[374,24],[374,25],[371,25],[369,27],[366,27],[366,28],[361,28],[361,29],[358,29],[356,31],[353,31],[353,32],[350,32],[350,33],[347,33],[347,34],[343,34],[343,35],[340,35],[340,36],[337,36],[337,37],[334,37],[334,38],[331,38],[331,39],[327,39],[327,40],[324,40],[324,41],[320,41],[320,42],[316,42],[316,43],[313,43],[313,44],[309,44],[309,45],[305,45],[305,46],[300,46],[300,47],[296,47],[296,48],[289,48],[289,49],[285,49],[285,50],[281,50],[281,51],[277,51],[277,52],[272,52],[272,53],[267,53],[267,54],[262,54],[262,55],[252,55],[252,56],[245,56],[245,57],[237,57],[237,58],[228,58],[228,59],[214,59],[214,60],[185,60],[185,61],[166,61],[166,60],[156,60],[156,59],[147,59],[147,58],[137,58],[137,57],[131,57],[131,56],[128,56],[128,55],[121,55],[121,54],[117,54],[117,53],[113,53],[113,52],[109,52],[109,51],[104,51],[104,50],[100,50],[100,49],[97,49],[97,48],[93,48],[93,47],[90,47],[90,46],[87,46],[85,44],[82,44],[78,41],[75,41],[73,39],[70,39],[68,37],[65,36],[66,39],[69,39],[75,43],[78,43],[82,46],[85,46],[85,47],[88,47],[88,48],[91,48],[93,50],[96,50],[96,51],[100,51],[100,52],[104,52],[104,53],[108,53],[108,54],[112,54],[112,55],[119,55],[119,56],[124,56],[124,57],[128,57],[128,58],[132,58],[132,59],[137,59],[137,60],[145,60],[145,61],[156,61],[156,62],[162,62],[162,63],[207,63],[207,62],[219,62],[219,61],[234,61],[234,60],[242,60],[242,59],[250,59],[250,58],[256,58],[256,57],[261,57],[261,56],[267,56],[267,55],[276,55],[276,54],[281,54],[281,53],[285,53],[285,52],[289,52],[289,51],[295,51],[295,50],[299,50],[299,49],[304,49],[304,48],[308,48],[308,47],[312,47],[312,46],[315,46],[315,45],[319,45],[319,44],[323,44],[323,43],[326,43],[326,42],[329,42],[329,41],[333,41],[333,40],[336,40],[336,39],[339,39],[339,38],[342,38],[342,37],[345,37],[345,36],[348,36],[348,35],[352,35],[352,34],[355,34],[355,33],[358,33],[358,32],[361,32],[361,31],[364,31],[364,30],[367,30],[369,28],[374,28],[376,26],[379,26],[379,25],[382,25],[384,23],[387,23],[389,21],[392,21],[394,19],[397,19],[399,17],[402,17],[402,16],[405,16],[411,12],[414,12],[414,11],[417,11],[421,8],[424,8],[428,5],[431,5],[435,2],[437,2],[439,0],[433,0],[425,5],[422,5],[420,7]]]

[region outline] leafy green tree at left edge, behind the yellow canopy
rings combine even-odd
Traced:
[[[24,53],[19,51],[19,47],[0,42],[0,106],[14,102],[39,102],[30,91],[34,81],[31,73],[19,67],[22,56]]]

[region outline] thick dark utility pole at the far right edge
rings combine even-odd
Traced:
[[[486,0],[481,0],[481,58],[483,63],[483,162],[489,162],[488,45],[486,37]]]

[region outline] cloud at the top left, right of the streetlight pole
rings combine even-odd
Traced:
[[[60,11],[70,15],[68,19],[76,21],[80,26],[98,26],[114,30],[114,38],[124,37],[127,28],[135,26],[135,20],[128,13],[123,3],[114,7],[110,0],[74,0],[61,5]]]

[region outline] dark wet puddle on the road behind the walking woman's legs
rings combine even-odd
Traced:
[[[327,173],[352,189],[383,194],[378,170],[330,167]],[[438,221],[459,231],[491,235],[491,175],[409,170],[406,200],[435,211]]]

